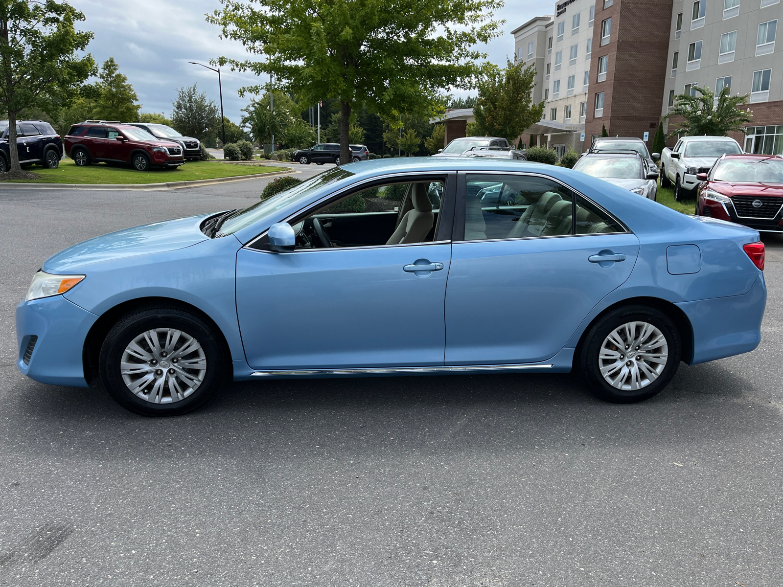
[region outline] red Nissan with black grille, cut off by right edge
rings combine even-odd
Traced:
[[[783,158],[779,155],[723,155],[709,173],[696,176],[696,214],[783,232]]]

